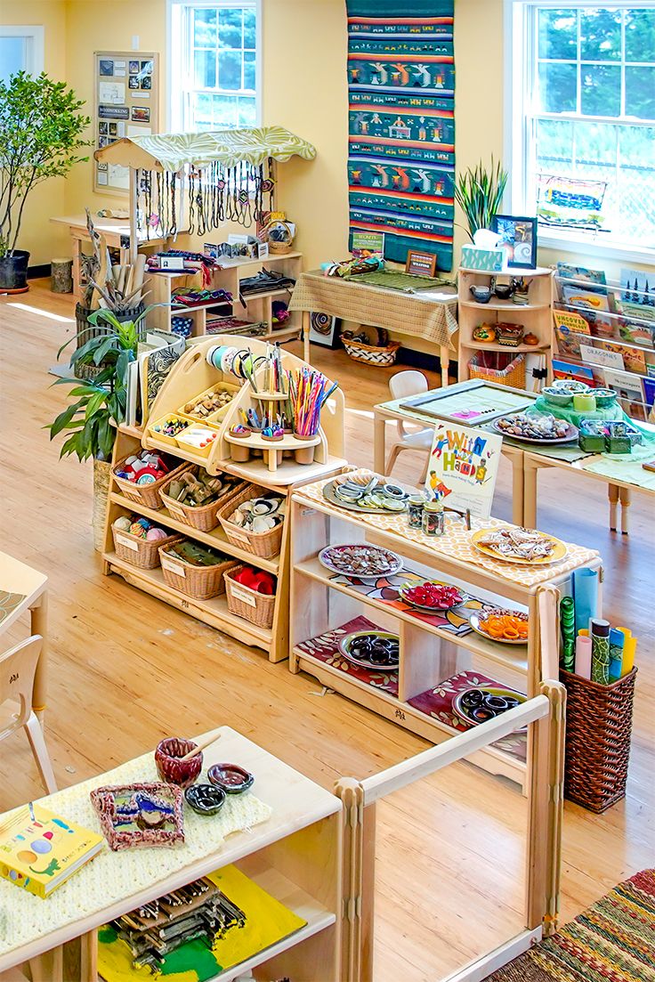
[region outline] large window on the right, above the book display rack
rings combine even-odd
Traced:
[[[513,209],[655,248],[655,3],[513,4]]]

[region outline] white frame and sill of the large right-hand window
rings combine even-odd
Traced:
[[[527,16],[533,7],[642,7],[655,9],[655,0],[505,0],[505,166],[510,173],[508,182],[508,211],[524,215],[527,200],[528,154],[533,147],[528,145],[524,119],[526,115],[529,90],[533,90],[533,72],[536,65],[534,32],[529,30],[530,18]],[[566,119],[567,117],[563,117]],[[583,253],[600,258],[630,260],[634,262],[655,262],[655,247],[636,246],[622,243],[615,233],[575,232],[573,229],[554,229],[539,226],[539,246],[564,251]]]

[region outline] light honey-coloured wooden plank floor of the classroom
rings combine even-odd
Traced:
[[[65,402],[47,374],[73,335],[70,297],[47,281],[0,300],[2,470],[0,547],[50,577],[47,738],[60,787],[152,748],[170,734],[228,724],[331,788],[365,777],[425,743],[335,694],[320,694],[286,664],[103,577],[92,550],[91,467],[58,460],[42,428]],[[316,363],[346,392],[351,461],[372,463],[371,406],[391,370],[355,365],[314,348]],[[436,376],[431,376],[436,381]],[[401,456],[396,476],[416,480],[420,461]],[[510,517],[502,472],[495,513]],[[540,475],[540,525],[600,550],[607,616],[639,638],[639,676],[628,799],[604,816],[566,806],[563,914],[570,918],[624,877],[653,864],[655,657],[652,511],[634,495],[629,538],[607,529],[603,488]],[[3,639],[4,643],[4,639]],[[255,789],[256,791],[256,789]],[[0,810],[40,793],[27,739],[0,749]],[[519,831],[525,802],[515,786],[465,764],[380,809],[376,982],[437,979],[519,930]],[[301,982],[301,980],[296,980]],[[328,980],[326,980],[328,982]]]

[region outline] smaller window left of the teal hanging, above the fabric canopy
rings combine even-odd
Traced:
[[[257,0],[172,0],[170,8],[172,129],[257,126]]]

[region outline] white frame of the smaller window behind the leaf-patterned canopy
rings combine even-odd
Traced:
[[[246,0],[246,3],[251,0]],[[185,45],[189,49],[191,38],[187,36],[186,18],[184,8],[192,4],[194,7],[243,7],[243,0],[167,0],[167,63],[170,66],[166,74],[166,128],[169,133],[183,133],[185,129],[185,107],[183,105],[183,93],[180,82],[185,71],[184,55]],[[255,9],[257,19],[255,37],[255,62],[254,62],[254,84],[255,84],[255,126],[261,126],[261,61],[262,61],[262,0],[254,0],[252,6]],[[176,92],[176,86],[178,91]],[[231,94],[239,95],[238,91]]]

